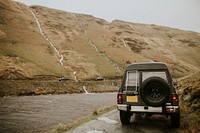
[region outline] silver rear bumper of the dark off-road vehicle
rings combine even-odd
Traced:
[[[163,107],[151,107],[151,106],[129,106],[126,104],[118,104],[117,109],[121,111],[141,112],[141,113],[178,113],[179,106],[166,106]]]

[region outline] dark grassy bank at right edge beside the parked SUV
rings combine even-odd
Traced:
[[[178,80],[182,128],[186,132],[200,132],[200,72]]]

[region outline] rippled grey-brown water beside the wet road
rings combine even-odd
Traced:
[[[71,123],[95,108],[114,104],[116,93],[0,98],[0,132],[49,132],[59,123]]]

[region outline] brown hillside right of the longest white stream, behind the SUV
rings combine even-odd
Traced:
[[[41,6],[31,9],[63,53],[68,70],[77,71],[79,79],[115,77],[127,64],[139,61],[165,62],[174,77],[197,71],[200,66],[199,33],[120,20],[108,23]]]

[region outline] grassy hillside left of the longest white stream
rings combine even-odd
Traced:
[[[29,7],[0,1],[0,78],[67,75],[39,32]]]

